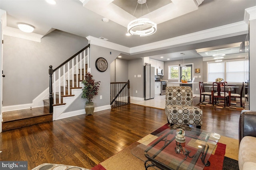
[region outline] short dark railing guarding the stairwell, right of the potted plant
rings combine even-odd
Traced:
[[[110,83],[110,105],[111,107],[130,104],[130,81]]]

